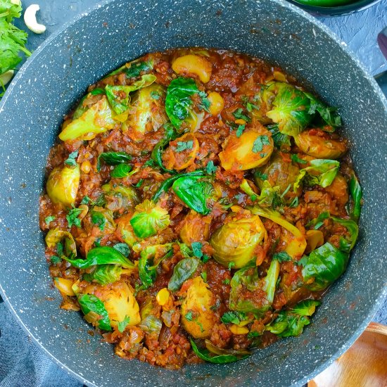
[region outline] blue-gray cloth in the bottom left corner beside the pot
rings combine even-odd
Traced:
[[[82,387],[39,350],[0,304],[0,387]]]

